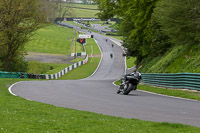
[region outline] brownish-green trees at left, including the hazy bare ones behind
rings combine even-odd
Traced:
[[[72,0],[0,0],[0,71],[27,71],[25,45],[34,31],[70,13]]]

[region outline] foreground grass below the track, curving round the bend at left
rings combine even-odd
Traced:
[[[0,79],[0,132],[4,133],[199,133],[200,128],[106,116],[12,96],[8,86],[19,79]]]

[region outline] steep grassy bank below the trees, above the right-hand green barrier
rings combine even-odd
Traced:
[[[200,46],[174,46],[166,54],[142,62],[143,73],[200,73]]]

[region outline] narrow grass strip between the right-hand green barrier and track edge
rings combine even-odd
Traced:
[[[120,85],[120,80],[115,82],[116,85]],[[181,98],[187,98],[187,99],[193,99],[193,100],[200,100],[200,92],[193,92],[193,91],[184,91],[184,90],[178,90],[178,89],[167,89],[167,88],[158,88],[148,85],[138,85],[139,90],[145,90],[149,92],[154,92],[157,94],[163,94],[167,96],[175,96],[175,97],[181,97]]]

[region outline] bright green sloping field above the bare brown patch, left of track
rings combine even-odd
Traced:
[[[36,31],[26,49],[31,52],[70,54],[73,35],[74,29],[50,25]]]

